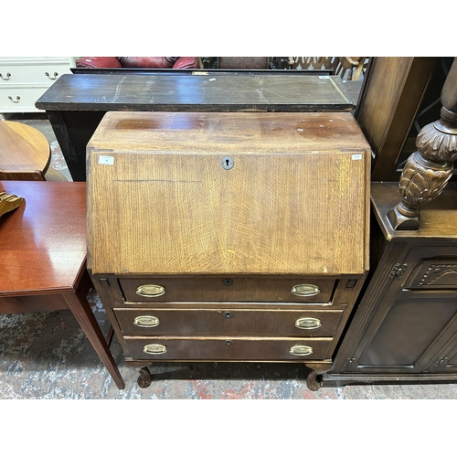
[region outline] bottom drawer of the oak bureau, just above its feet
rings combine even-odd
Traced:
[[[329,358],[332,338],[131,337],[124,340],[139,360],[299,361]]]

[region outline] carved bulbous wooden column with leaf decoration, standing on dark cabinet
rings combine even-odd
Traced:
[[[388,211],[396,230],[419,228],[420,207],[438,197],[452,176],[457,158],[457,58],[441,90],[441,119],[426,125],[399,180],[401,200]]]

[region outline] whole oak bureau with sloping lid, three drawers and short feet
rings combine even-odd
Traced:
[[[368,270],[370,148],[348,112],[107,112],[88,270],[125,354],[332,365]]]

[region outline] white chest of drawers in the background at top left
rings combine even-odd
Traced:
[[[72,67],[72,57],[0,57],[0,113],[40,112],[35,102]]]

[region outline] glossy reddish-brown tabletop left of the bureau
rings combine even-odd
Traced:
[[[0,296],[74,292],[85,270],[85,183],[2,181],[0,192],[25,198],[0,218]]]

